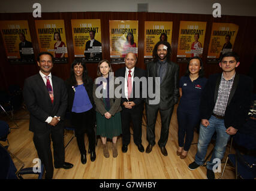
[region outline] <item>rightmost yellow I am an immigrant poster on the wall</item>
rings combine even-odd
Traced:
[[[207,63],[218,63],[222,54],[232,51],[239,26],[232,23],[212,23]]]

